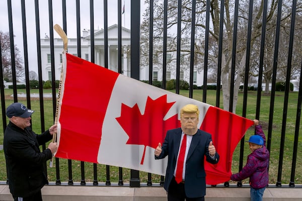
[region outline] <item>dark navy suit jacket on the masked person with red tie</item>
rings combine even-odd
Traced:
[[[173,179],[181,134],[181,128],[169,130],[162,145],[162,153],[158,157],[155,157],[156,159],[162,159],[168,155],[164,184],[164,188],[167,191]],[[216,164],[219,161],[218,153],[213,158],[209,155],[208,146],[210,141],[212,141],[211,135],[199,129],[193,135],[187,156],[185,173],[185,192],[188,197],[202,197],[205,195],[204,157],[206,157],[206,161],[212,164]]]

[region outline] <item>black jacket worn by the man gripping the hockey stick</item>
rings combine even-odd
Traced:
[[[39,145],[51,139],[48,130],[37,135],[30,127],[22,130],[9,123],[3,144],[10,191],[14,197],[31,196],[48,183],[43,164],[52,154],[50,149],[41,152]]]

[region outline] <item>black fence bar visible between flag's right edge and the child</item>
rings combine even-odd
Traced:
[[[244,89],[243,89],[243,108],[242,108],[242,116],[246,117],[247,113],[247,99],[248,99],[248,83],[249,83],[249,69],[250,69],[250,53],[251,53],[251,36],[252,36],[252,22],[253,22],[253,5],[254,0],[250,0],[249,5],[249,22],[248,22],[248,36],[247,36],[247,52],[246,52],[246,64],[245,64],[245,76],[244,76]],[[243,167],[243,154],[244,154],[244,143],[245,136],[242,137],[240,141],[240,155],[239,155],[239,171],[242,170]],[[242,181],[237,182],[237,186],[242,186]]]

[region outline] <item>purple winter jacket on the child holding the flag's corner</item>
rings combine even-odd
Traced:
[[[248,155],[247,164],[237,174],[232,174],[233,181],[241,181],[250,177],[250,185],[254,189],[264,188],[268,184],[269,151],[265,146],[265,135],[261,125],[255,126],[256,134],[264,140],[262,148],[254,150]]]

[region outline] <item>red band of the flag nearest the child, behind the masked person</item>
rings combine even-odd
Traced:
[[[215,165],[205,162],[207,184],[217,184],[217,177],[220,183],[230,180],[234,150],[246,130],[253,124],[252,120],[219,108],[210,107],[207,110],[200,129],[212,135],[213,145],[220,156]]]

